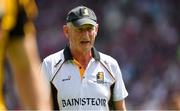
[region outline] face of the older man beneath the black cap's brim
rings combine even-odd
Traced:
[[[73,50],[86,53],[91,50],[97,35],[98,26],[90,24],[75,27],[71,24],[68,31],[70,47]]]

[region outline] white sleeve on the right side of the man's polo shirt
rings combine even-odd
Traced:
[[[128,96],[128,92],[125,88],[121,70],[117,62],[114,68],[115,68],[114,73],[116,74],[116,77],[115,77],[116,81],[115,81],[115,86],[113,89],[113,100],[119,101],[119,100],[125,99]]]

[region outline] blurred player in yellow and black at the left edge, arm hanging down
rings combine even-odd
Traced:
[[[37,52],[33,19],[34,0],[0,0],[0,110],[6,109],[3,97],[5,56],[13,69],[23,109],[51,109],[50,89],[37,72]],[[25,37],[26,36],[26,37]]]

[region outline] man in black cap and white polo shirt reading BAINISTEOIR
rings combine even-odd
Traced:
[[[95,13],[85,6],[72,9],[63,30],[69,44],[42,63],[59,108],[109,110],[113,99],[116,110],[126,110],[128,93],[117,61],[94,48]]]

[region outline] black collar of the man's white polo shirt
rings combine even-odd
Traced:
[[[100,60],[99,52],[94,47],[91,49],[91,51],[92,51],[93,58],[95,60],[99,61]],[[66,47],[64,48],[64,52],[63,53],[64,53],[65,61],[73,60],[73,57],[72,57],[72,54],[71,54],[69,46],[66,45]]]

